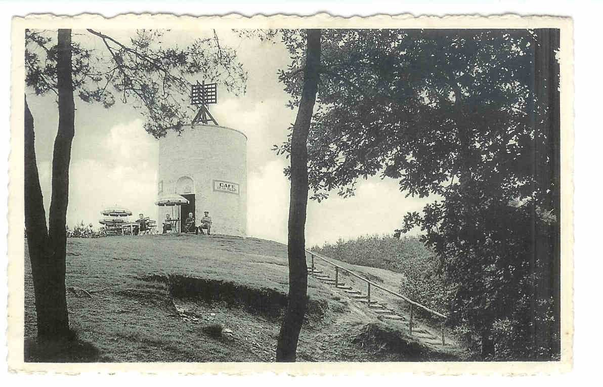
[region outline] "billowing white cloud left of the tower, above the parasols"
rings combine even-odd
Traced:
[[[85,158],[74,158],[69,168],[69,206],[67,223],[70,227],[80,221],[98,220],[104,207],[124,206],[137,213],[156,218],[154,205],[157,193],[156,140],[145,133],[142,121],[117,124],[106,132],[98,145],[83,142],[88,151]],[[74,146],[78,146],[74,144]],[[81,149],[74,149],[75,153]],[[51,162],[39,162],[40,186],[49,215],[51,201]]]

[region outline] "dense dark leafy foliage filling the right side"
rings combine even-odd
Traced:
[[[450,324],[479,329],[485,358],[494,355],[492,329],[502,321],[525,340],[511,348],[514,356],[548,359],[559,350],[558,38],[551,35],[323,31],[308,145],[312,198],[330,190],[348,197],[358,178],[375,174],[398,179],[407,195],[443,198],[408,214],[400,231],[423,230],[455,289]],[[295,105],[305,58],[289,52],[280,80]],[[287,155],[290,146],[276,151]]]

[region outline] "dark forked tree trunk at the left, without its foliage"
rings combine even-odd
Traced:
[[[38,336],[45,339],[61,339],[69,335],[65,294],[65,224],[75,116],[71,30],[58,30],[57,48],[58,133],[52,156],[52,198],[48,232],[36,166],[33,117],[27,101],[25,103],[25,227],[36,297]]]

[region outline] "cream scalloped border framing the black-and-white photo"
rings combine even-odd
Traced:
[[[403,362],[403,363],[24,363],[24,50],[25,28],[132,29],[152,22],[154,28],[203,30],[208,28],[560,28],[561,51],[561,361],[560,362]],[[370,17],[314,16],[175,16],[122,14],[107,19],[98,14],[55,16],[32,14],[13,17],[11,28],[11,153],[8,187],[8,368],[27,373],[365,375],[421,373],[428,375],[556,374],[572,369],[573,362],[573,21],[567,17],[420,16],[410,14]]]

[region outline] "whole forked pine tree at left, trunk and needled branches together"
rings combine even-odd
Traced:
[[[106,51],[87,48],[72,36],[85,34]],[[69,337],[65,295],[66,213],[69,198],[69,161],[75,134],[74,94],[104,107],[123,102],[143,108],[145,130],[154,137],[168,130],[182,131],[192,110],[188,106],[188,75],[203,72],[235,93],[244,92],[247,73],[233,49],[213,37],[195,40],[186,48],[164,48],[163,31],[137,31],[130,42],[95,30],[72,33],[58,30],[25,31],[25,84],[37,95],[54,93],[58,105],[58,133],[52,158],[52,198],[49,225],[40,189],[34,146],[34,119],[25,99],[25,232],[28,236],[38,336]]]

